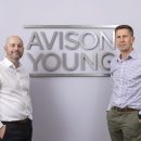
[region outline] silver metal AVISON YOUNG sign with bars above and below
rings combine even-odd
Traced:
[[[114,25],[25,25],[33,77],[110,76]]]

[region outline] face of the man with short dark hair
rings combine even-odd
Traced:
[[[116,47],[120,52],[129,53],[132,51],[132,44],[134,42],[134,37],[129,31],[129,29],[123,28],[115,33]]]

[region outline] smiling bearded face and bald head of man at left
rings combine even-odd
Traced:
[[[18,62],[24,53],[23,41],[18,36],[8,38],[4,47],[7,57],[11,62]]]

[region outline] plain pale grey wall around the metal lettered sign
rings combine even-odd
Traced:
[[[118,25],[134,28],[140,51],[139,0],[1,0],[0,60],[8,36],[20,35],[27,44],[24,25]],[[26,67],[29,62],[23,59]],[[31,78],[34,141],[110,141],[106,106],[110,77]]]

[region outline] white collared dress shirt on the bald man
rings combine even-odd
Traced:
[[[1,121],[33,119],[31,113],[28,73],[4,59],[0,62],[0,128]]]

